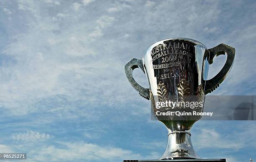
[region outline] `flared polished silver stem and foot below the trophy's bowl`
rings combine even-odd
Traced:
[[[160,160],[201,159],[193,149],[190,131],[171,131],[168,129],[168,144]]]

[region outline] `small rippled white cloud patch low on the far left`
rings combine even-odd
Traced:
[[[51,138],[49,134],[34,132],[34,131],[27,131],[26,133],[18,133],[12,135],[13,140],[18,141],[26,141],[26,142],[33,142],[33,141],[41,141],[41,140],[48,140]]]

